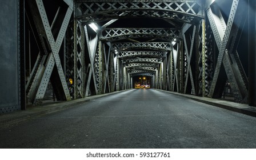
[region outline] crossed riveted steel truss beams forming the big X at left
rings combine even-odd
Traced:
[[[46,55],[40,55],[38,57],[37,67],[34,68],[35,74],[33,76],[33,83],[29,82],[29,86],[27,86],[27,96],[29,97],[30,102],[34,104],[41,103],[54,66],[57,67],[58,78],[60,80],[60,84],[56,86],[59,92],[57,93],[57,95],[59,95],[59,99],[71,99],[61,66],[61,60],[59,58],[59,50],[61,48],[67,26],[69,25],[71,14],[73,13],[73,1],[66,2],[69,3],[69,7],[67,8],[65,18],[63,19],[56,40],[54,39],[54,35],[51,31],[51,27],[53,26],[50,26],[49,24],[43,2],[41,0],[28,2],[44,49],[43,51]],[[58,17],[58,14],[55,15],[55,18],[56,17]],[[54,75],[54,77],[56,76],[57,75]],[[63,97],[61,95],[63,95]]]

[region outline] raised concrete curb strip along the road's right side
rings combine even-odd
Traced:
[[[165,90],[159,90],[159,91],[165,91]],[[256,107],[251,107],[246,104],[229,102],[225,100],[213,99],[213,98],[207,98],[207,97],[197,97],[195,95],[181,94],[173,91],[165,91],[165,92],[178,95],[180,97],[189,98],[194,101],[206,103],[207,105],[212,105],[212,106],[220,107],[222,109],[231,110],[237,113],[242,113],[242,114],[250,115],[252,117],[256,117]]]

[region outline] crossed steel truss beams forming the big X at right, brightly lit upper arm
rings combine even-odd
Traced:
[[[237,51],[235,51],[235,46],[237,46],[238,43],[237,37],[239,37],[239,27],[243,25],[246,19],[247,12],[244,11],[243,7],[246,5],[245,1],[233,0],[227,25],[223,20],[220,11],[218,14],[219,17],[217,17],[213,14],[211,8],[207,10],[207,16],[219,49],[217,65],[209,93],[210,97],[215,97],[222,93],[222,91],[219,91],[217,88],[219,85],[222,85],[219,84],[219,82],[221,82],[220,79],[223,78],[223,74],[220,74],[222,70],[221,65],[223,63],[231,89],[233,90],[235,101],[240,103],[247,102],[247,78],[241,62],[239,61]]]

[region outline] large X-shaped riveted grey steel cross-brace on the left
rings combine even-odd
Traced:
[[[31,102],[34,102],[34,103],[40,102],[42,100],[46,91],[46,86],[48,85],[51,73],[53,71],[53,67],[54,65],[56,65],[59,79],[61,81],[61,87],[63,89],[63,93],[65,94],[64,95],[65,99],[70,100],[69,89],[67,88],[66,79],[63,74],[61,61],[59,59],[58,53],[63,41],[63,37],[65,35],[63,33],[66,32],[71,14],[73,13],[73,3],[70,4],[71,5],[70,8],[68,8],[66,11],[66,15],[61,25],[61,29],[59,31],[56,41],[53,38],[53,33],[51,33],[51,27],[49,25],[49,21],[47,19],[46,11],[42,1],[38,0],[35,3],[31,2],[29,4],[30,4],[31,11],[33,12],[34,21],[36,23],[37,30],[39,32],[39,37],[41,38],[41,43],[44,48],[45,54],[49,54],[49,57],[46,61],[47,63],[46,63],[45,69],[40,71],[42,77],[39,76],[39,79],[34,80],[38,82],[39,87],[32,86],[33,87],[32,90],[34,90],[36,94],[35,93],[33,93],[33,95],[30,94],[29,98],[31,99]],[[38,10],[35,8],[38,8]],[[38,78],[38,77],[35,77],[35,78]]]

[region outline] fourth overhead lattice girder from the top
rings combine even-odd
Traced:
[[[129,57],[151,57],[151,58],[165,58],[166,52],[163,51],[121,51],[119,58]]]

